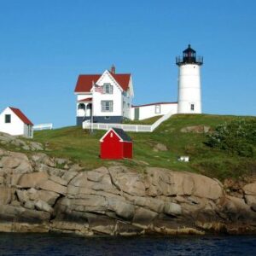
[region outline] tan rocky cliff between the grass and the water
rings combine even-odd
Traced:
[[[125,166],[84,171],[69,160],[0,148],[0,231],[237,234],[255,233],[255,225],[256,182],[231,196],[218,180],[195,173]]]

